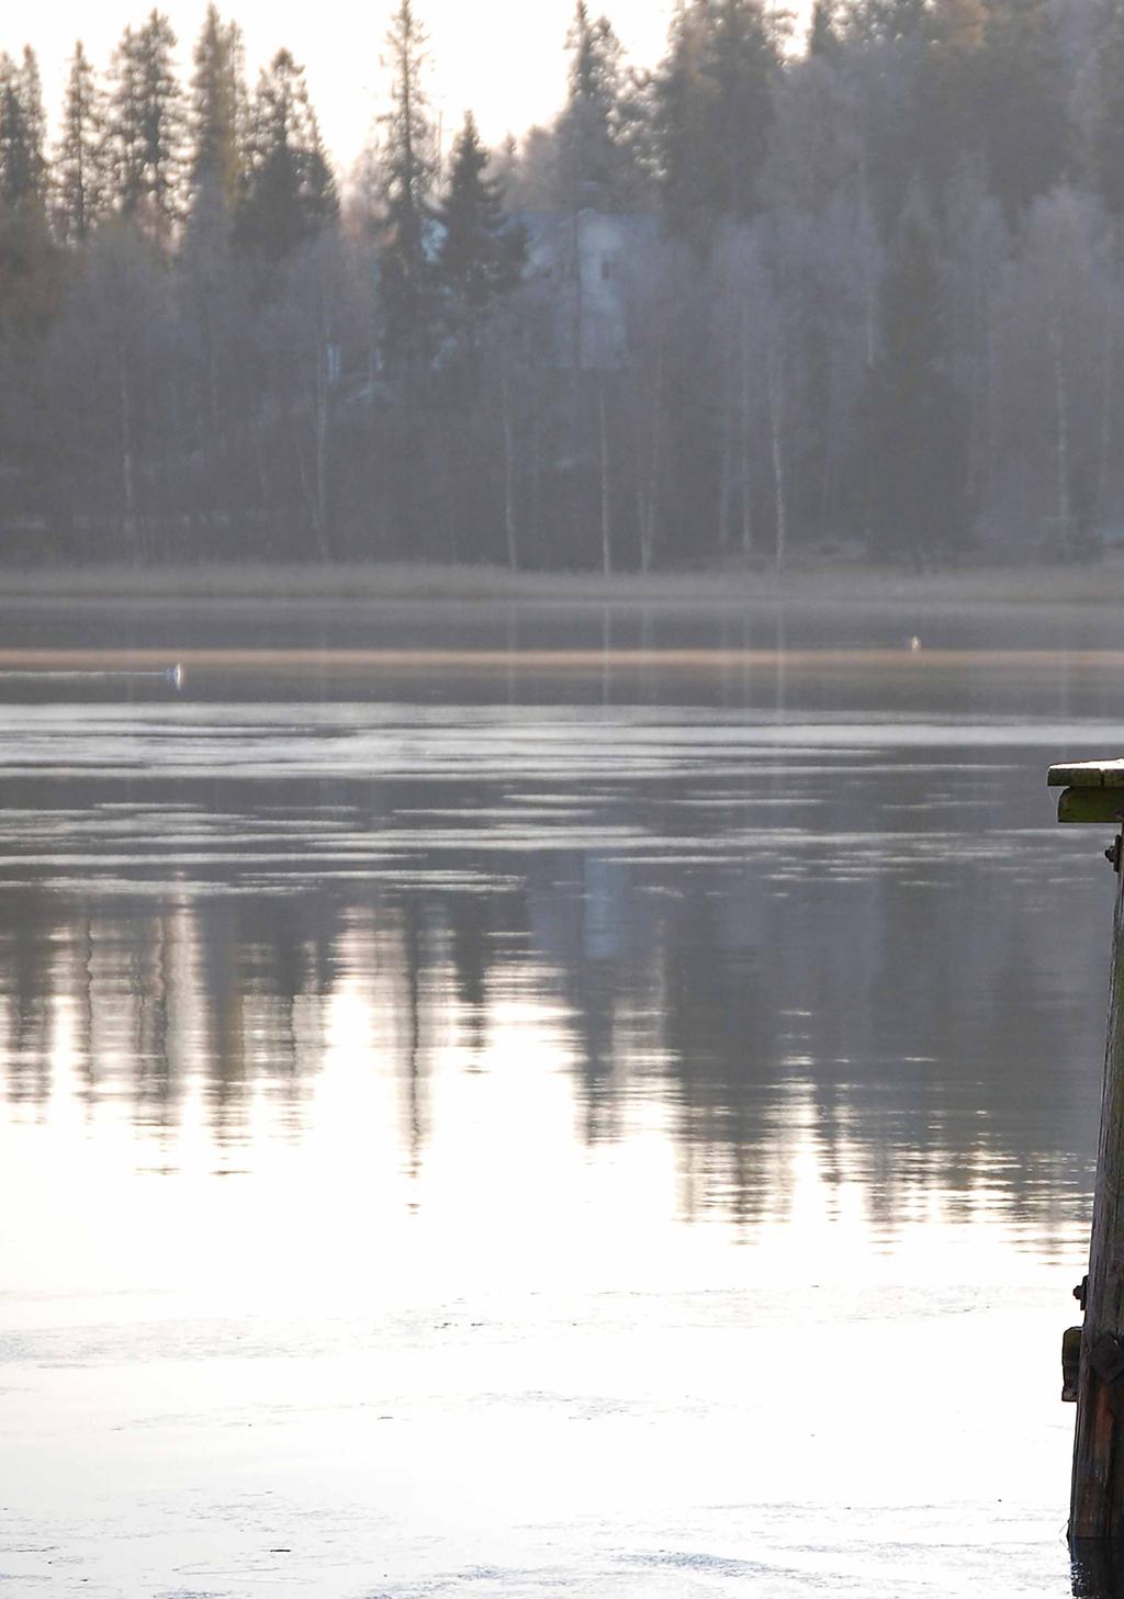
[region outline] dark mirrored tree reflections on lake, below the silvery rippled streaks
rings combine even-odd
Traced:
[[[302,1137],[334,1006],[358,991],[417,1172],[435,1060],[456,1039],[459,1070],[488,1073],[518,998],[556,1019],[587,1146],[627,1142],[659,1110],[688,1217],[751,1230],[780,1214],[801,1145],[828,1194],[857,1185],[887,1238],[931,1194],[953,1215],[1002,1210],[1039,1242],[1082,1214],[1100,929],[1058,951],[1033,871],[812,860],[793,881],[767,855],[680,867],[598,851],[505,857],[496,881],[472,851],[456,865],[452,886],[416,863],[320,887],[8,886],[13,1115],[48,1115],[62,1078],[90,1113],[126,1100],[171,1145],[197,1094],[222,1169],[262,1116],[270,1137]],[[531,1035],[523,1068],[537,1070]]]

